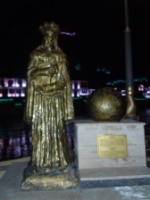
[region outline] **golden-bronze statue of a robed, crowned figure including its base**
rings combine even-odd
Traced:
[[[66,123],[74,119],[68,60],[58,46],[59,26],[45,22],[40,31],[43,42],[30,54],[27,72],[24,120],[32,127],[33,149],[22,184],[25,190],[77,184],[74,175],[70,183],[68,177],[64,181],[75,160],[66,133]],[[45,185],[39,183],[42,178]]]

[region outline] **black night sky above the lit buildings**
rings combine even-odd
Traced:
[[[128,0],[134,77],[149,75],[150,3]],[[50,1],[1,6],[0,76],[26,77],[28,57],[41,44],[39,26],[55,21],[61,31],[60,47],[67,54],[71,78],[93,78],[96,67],[106,67],[112,77],[125,77],[124,1]],[[74,66],[80,63],[81,70]],[[111,77],[111,78],[112,78]]]

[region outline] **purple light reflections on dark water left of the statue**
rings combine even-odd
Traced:
[[[0,125],[0,160],[31,155],[30,128],[21,120],[3,121]]]

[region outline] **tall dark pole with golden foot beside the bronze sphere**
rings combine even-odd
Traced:
[[[125,69],[126,69],[126,113],[125,118],[136,119],[134,102],[134,87],[132,75],[131,30],[129,28],[128,2],[124,0],[125,8]]]

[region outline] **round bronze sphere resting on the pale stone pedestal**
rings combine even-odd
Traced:
[[[123,97],[111,87],[97,89],[87,106],[89,116],[95,121],[119,121],[125,113]]]

